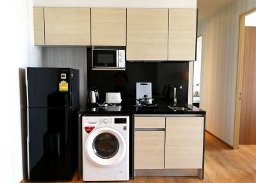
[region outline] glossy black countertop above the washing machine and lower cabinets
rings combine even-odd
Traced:
[[[159,100],[157,107],[154,109],[138,109],[134,106],[135,102],[127,102],[122,106],[109,106],[106,109],[101,107],[84,107],[81,108],[79,114],[200,114],[205,115],[205,111],[190,104],[177,104],[177,106],[188,107],[188,111],[173,111],[168,106],[173,106],[172,102]]]

